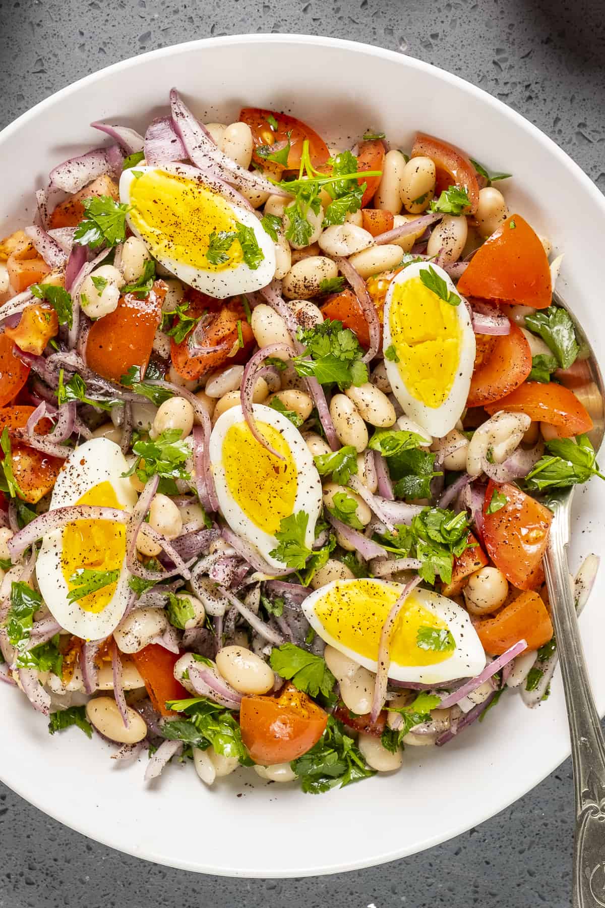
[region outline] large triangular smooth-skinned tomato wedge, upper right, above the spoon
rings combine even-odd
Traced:
[[[548,258],[538,234],[521,214],[511,214],[474,253],[458,291],[534,309],[551,305]]]

